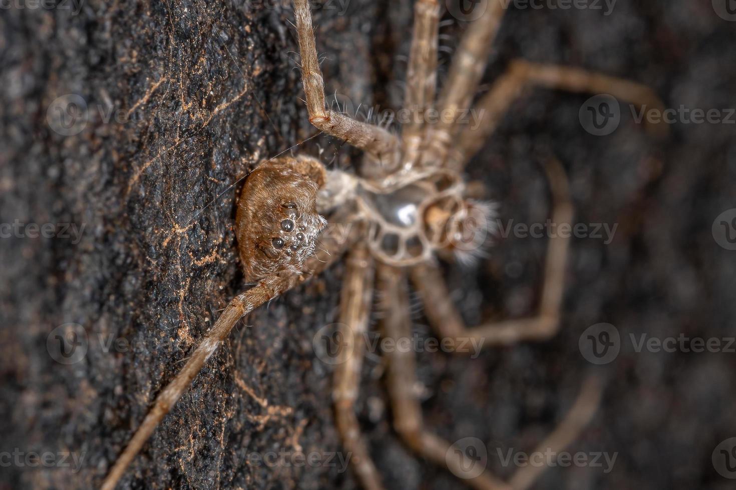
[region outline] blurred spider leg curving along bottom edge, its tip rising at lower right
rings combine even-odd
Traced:
[[[392,267],[378,267],[379,288],[387,299],[385,320],[381,323],[383,335],[392,339],[396,348],[384,353],[388,361],[386,381],[394,417],[394,428],[403,441],[430,461],[440,466],[448,466],[455,475],[467,475],[467,456],[462,451],[453,450],[452,444],[425,430],[422,422],[422,408],[414,386],[417,384],[414,352],[411,348],[400,348],[401,339],[411,339],[411,319],[408,316],[408,291],[403,273]],[[406,342],[407,346],[411,342]],[[573,407],[565,419],[541,444],[537,451],[559,453],[573,442],[581,430],[590,422],[601,396],[601,386],[595,378],[587,378]],[[475,478],[463,481],[478,490],[522,490],[528,489],[534,480],[546,469],[545,466],[525,466],[514,473],[509,483],[503,482],[482,472]]]

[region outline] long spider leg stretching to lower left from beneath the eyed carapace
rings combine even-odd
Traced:
[[[158,427],[163,417],[166,417],[166,414],[177,403],[177,400],[191,386],[192,381],[199,374],[199,371],[202,370],[202,366],[207,359],[227,339],[227,336],[229,336],[233,326],[238,323],[238,320],[263,303],[276,298],[292,287],[302,284],[302,282],[312,275],[319,274],[322,270],[325,270],[342,256],[345,248],[350,245],[350,240],[341,243],[334,239],[327,239],[325,245],[330,248],[330,251],[323,247],[305,262],[305,269],[311,271],[310,273],[302,275],[274,275],[264,278],[256,286],[237,295],[230,301],[222,312],[222,315],[217,319],[215,325],[210,328],[210,331],[199,342],[199,345],[182,370],[158,394],[153,408],[146,414],[143,422],[141,422],[141,426],[135,431],[127,447],[118,456],[115,465],[107,474],[107,478],[105,478],[105,481],[100,487],[102,490],[113,490],[115,488],[118,480],[120,480],[133,458],[135,458],[135,455],[141,451],[141,447],[146,443],[155,428]]]

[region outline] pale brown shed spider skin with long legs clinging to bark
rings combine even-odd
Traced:
[[[405,109],[414,117],[403,124],[400,134],[394,134],[328,109],[309,3],[294,0],[309,120],[320,131],[364,151],[360,172],[326,170],[318,159],[300,155],[262,162],[250,173],[238,201],[236,227],[246,280],[257,284],[230,301],[183,369],[158,394],[102,489],[116,486],[158,423],[241,317],[321,273],[343,255],[347,267],[339,333],[352,349],[342,364],[336,364],[333,401],[336,427],[364,489],[383,488],[355,416],[374,292],[388,303],[381,328],[383,336],[394,341],[411,336],[410,280],[428,320],[443,338],[478,339],[489,346],[544,340],[556,333],[569,247],[569,238],[562,235],[549,240],[539,311],[534,317],[467,328],[449,299],[437,259],[473,260],[478,236],[490,231],[493,214],[492,206],[473,198],[462,176],[464,166],[528,87],[607,93],[650,109],[662,104],[642,84],[578,68],[516,60],[477,102],[481,124],[462,126],[459,116],[473,103],[506,3],[490,0],[484,15],[470,23],[437,93],[439,0],[415,2],[405,94]],[[442,117],[429,122],[429,111]],[[564,170],[554,160],[545,170],[551,188],[551,220],[570,223],[573,207]],[[321,214],[349,224],[347,239],[320,234],[327,224]],[[485,471],[469,475],[472,455],[434,435],[422,422],[420,401],[411,390],[416,383],[414,353],[392,350],[385,353],[385,359],[394,429],[418,455],[447,466],[475,489],[526,489],[543,471],[537,466],[523,467],[508,483]],[[584,381],[576,403],[539,447],[559,452],[575,439],[595,412],[600,394],[595,378]]]

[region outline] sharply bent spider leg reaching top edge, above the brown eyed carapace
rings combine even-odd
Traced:
[[[398,150],[398,142],[393,134],[325,107],[325,82],[317,59],[309,4],[308,0],[294,0],[294,16],[302,57],[302,83],[307,98],[309,122],[317,129],[361,148],[378,162],[392,164]]]

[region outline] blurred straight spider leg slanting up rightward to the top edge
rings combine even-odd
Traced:
[[[437,102],[439,120],[428,127],[425,135],[428,151],[425,157],[444,162],[457,133],[457,121],[464,110],[470,110],[475,90],[481,82],[493,38],[506,12],[504,0],[489,0],[486,12],[470,23],[453,56],[447,81]]]

